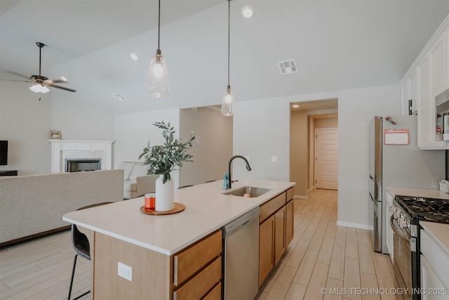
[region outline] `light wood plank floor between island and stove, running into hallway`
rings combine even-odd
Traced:
[[[373,252],[369,231],[337,226],[336,190],[314,190],[294,210],[295,237],[257,299],[396,299],[390,258]]]

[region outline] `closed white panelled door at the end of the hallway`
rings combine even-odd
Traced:
[[[315,129],[315,188],[338,189],[338,129]]]

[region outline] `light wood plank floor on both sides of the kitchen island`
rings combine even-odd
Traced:
[[[394,287],[391,263],[373,252],[368,231],[336,225],[337,191],[294,201],[295,238],[257,299],[394,299],[361,289]],[[73,256],[69,231],[0,249],[0,299],[67,299]],[[78,259],[72,297],[89,289],[90,268]]]

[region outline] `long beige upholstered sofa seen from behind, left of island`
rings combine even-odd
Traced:
[[[0,247],[70,227],[62,216],[123,201],[123,170],[0,177]]]

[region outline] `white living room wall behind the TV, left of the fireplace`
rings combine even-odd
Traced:
[[[19,175],[51,172],[51,92],[39,101],[29,86],[0,81],[0,140],[8,140],[8,165],[0,170],[18,170]]]

